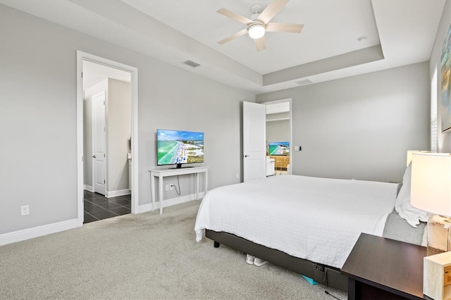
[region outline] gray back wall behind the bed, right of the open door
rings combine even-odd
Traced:
[[[401,181],[406,151],[429,149],[428,63],[257,95],[292,98],[292,173]]]

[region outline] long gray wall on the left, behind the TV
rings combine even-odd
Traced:
[[[205,132],[209,189],[239,181],[240,101],[253,94],[7,6],[0,15],[0,234],[77,218],[77,50],[138,68],[140,205],[157,128]]]

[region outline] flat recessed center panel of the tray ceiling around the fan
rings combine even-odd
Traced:
[[[259,52],[247,35],[218,44],[245,25],[216,11],[223,7],[249,18],[252,4],[266,7],[271,0],[123,2],[261,74],[379,44],[371,2],[366,0],[326,1],[326,9],[324,1],[292,0],[271,22],[304,24],[302,33],[267,32],[266,50]],[[360,44],[357,38],[362,35],[368,39]],[[309,45],[315,45],[315,49]]]

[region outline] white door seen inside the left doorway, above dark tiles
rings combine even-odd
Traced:
[[[105,92],[92,96],[92,185],[104,195],[106,182]]]

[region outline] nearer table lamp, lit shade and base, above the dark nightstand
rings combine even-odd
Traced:
[[[412,206],[431,213],[426,256],[451,251],[451,154],[412,154]]]

